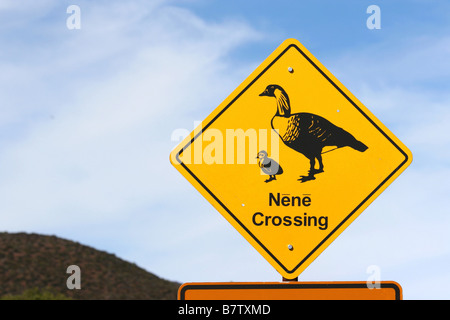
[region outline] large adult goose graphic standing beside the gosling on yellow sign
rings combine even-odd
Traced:
[[[309,159],[308,175],[300,176],[299,181],[314,180],[317,173],[324,172],[322,149],[326,146],[351,147],[360,152],[367,150],[364,143],[321,116],[306,112],[291,114],[289,97],[279,85],[268,85],[260,96],[276,99],[277,112],[272,118],[272,129],[278,133],[286,146]],[[317,169],[315,168],[316,159],[319,162]]]

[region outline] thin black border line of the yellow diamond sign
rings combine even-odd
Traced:
[[[352,212],[350,212],[349,215],[347,215],[347,217],[345,217],[341,223],[339,223],[336,228],[334,228],[302,261],[300,261],[300,263],[295,266],[292,270],[288,270],[273,254],[272,252],[270,252],[259,240],[258,238],[255,237],[254,234],[252,234],[250,232],[250,230],[247,229],[247,227],[242,224],[242,222],[222,203],[222,201],[219,200],[219,198],[211,191],[208,189],[208,187],[202,182],[200,181],[200,179],[191,171],[189,170],[189,168],[181,161],[180,159],[180,155],[183,153],[183,151],[191,144],[194,142],[195,139],[197,139],[203,132],[203,130],[208,129],[208,127],[214,122],[216,121],[234,102],[236,102],[237,99],[239,99],[239,97],[248,90],[248,88],[250,88],[255,82],[256,80],[258,80],[278,59],[281,58],[281,56],[283,56],[290,48],[295,48],[297,49],[302,55],[303,57],[305,57],[306,60],[309,61],[309,63],[311,63],[319,72],[320,74],[322,74],[375,128],[377,128],[377,130],[379,132],[381,132],[383,134],[384,137],[386,137],[386,139],[388,139],[399,151],[400,153],[403,154],[403,156],[405,157],[405,160],[402,161],[400,163],[400,165],[395,168],[394,171],[392,171],[387,177],[386,179],[384,179],[366,198],[364,198],[364,200],[358,204],[355,209],[353,209]],[[256,241],[256,243],[258,243],[263,249],[264,251],[267,252],[267,254],[269,254],[272,259],[274,261],[276,261],[278,263],[278,265],[283,268],[284,271],[286,271],[289,274],[292,274],[295,272],[295,270],[297,270],[303,263],[305,263],[305,261],[308,260],[308,258],[314,254],[314,252],[317,251],[317,249],[319,249],[324,243],[325,241],[327,241],[327,239],[329,239],[351,216],[353,216],[353,214],[355,214],[355,212],[362,206],[364,205],[364,203],[366,203],[371,197],[372,195],[377,192],[378,189],[380,189],[401,167],[403,167],[403,165],[405,165],[405,163],[408,162],[408,155],[406,154],[405,151],[403,151],[367,114],[365,114],[361,108],[352,100],[350,99],[350,97],[345,94],[344,91],[341,90],[341,88],[333,82],[333,80],[331,80],[326,73],[319,68],[319,66],[317,66],[314,61],[312,61],[307,54],[305,54],[297,45],[295,44],[290,44],[289,46],[286,47],[286,49],[284,49],[266,68],[264,68],[263,71],[261,71],[261,73],[259,75],[257,75],[255,77],[255,79],[253,79],[233,100],[231,100],[230,103],[228,103],[228,105],[226,107],[224,107],[208,124],[206,124],[202,130],[197,133],[192,139],[191,141],[189,141],[177,154],[176,154],[176,160],[181,164],[181,166],[211,195],[211,197],[213,197],[213,199],[215,201],[217,201],[217,203]]]

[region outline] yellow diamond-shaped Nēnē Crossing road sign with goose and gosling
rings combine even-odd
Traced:
[[[293,39],[171,154],[180,173],[287,279],[411,161],[403,143]]]

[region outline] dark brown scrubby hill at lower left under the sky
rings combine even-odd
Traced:
[[[81,289],[69,290],[67,267],[81,270]],[[49,299],[176,299],[167,281],[113,254],[55,236],[0,233],[0,297]]]

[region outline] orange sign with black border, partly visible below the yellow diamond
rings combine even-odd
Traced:
[[[220,282],[185,283],[178,300],[402,300],[402,287],[381,281],[366,282]]]

